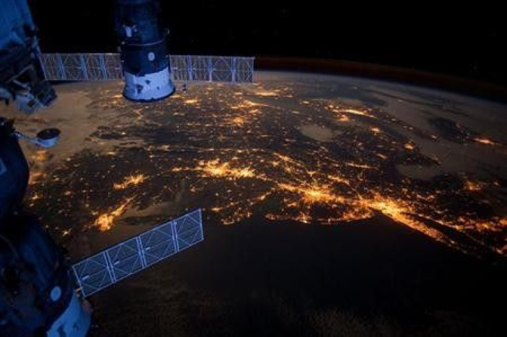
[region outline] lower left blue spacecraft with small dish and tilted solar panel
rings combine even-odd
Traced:
[[[55,129],[21,135],[0,117],[0,337],[85,337],[88,296],[204,240],[201,210],[194,210],[71,265],[22,207],[30,170],[19,139],[48,147],[58,136]]]

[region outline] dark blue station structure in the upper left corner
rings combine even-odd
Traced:
[[[36,32],[26,0],[0,0],[0,100],[16,102],[23,112],[56,99],[45,81]]]

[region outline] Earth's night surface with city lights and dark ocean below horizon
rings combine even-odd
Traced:
[[[497,336],[504,105],[282,72],[156,103],[121,89],[0,108],[62,130],[24,145],[25,204],[75,261],[203,209],[203,243],[92,296],[92,336]]]

